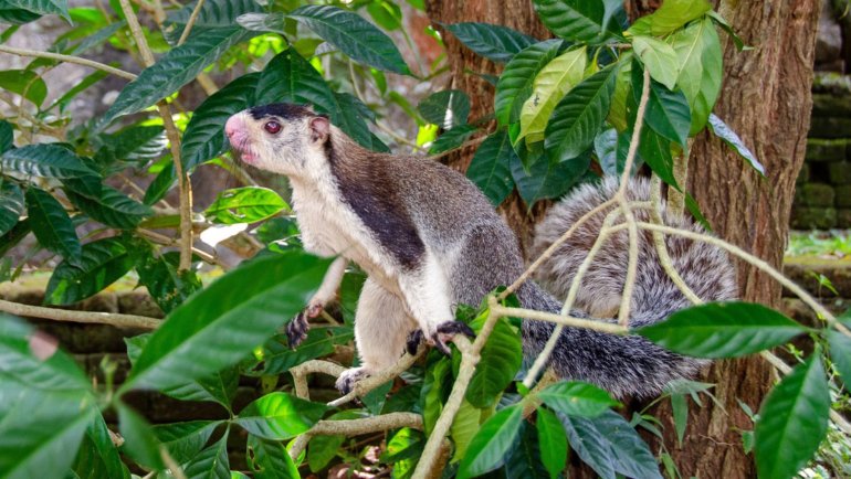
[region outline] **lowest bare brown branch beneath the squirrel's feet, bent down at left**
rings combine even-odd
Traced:
[[[290,448],[290,457],[295,459],[301,456],[314,436],[359,436],[400,427],[422,429],[422,416],[413,413],[389,413],[360,419],[319,421],[309,430],[295,438]]]

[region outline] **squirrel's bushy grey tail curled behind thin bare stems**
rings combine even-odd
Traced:
[[[617,179],[598,184],[586,184],[550,209],[538,224],[532,257],[540,255],[576,221],[610,199],[618,190]],[[647,201],[650,183],[644,179],[631,180],[630,200]],[[555,298],[564,300],[579,265],[597,241],[606,215],[600,212],[587,221],[538,269],[536,279]],[[649,221],[647,210],[634,210],[637,220]],[[669,226],[703,233],[691,220],[662,211]],[[674,268],[691,289],[705,301],[727,300],[736,296],[735,272],[725,252],[704,243],[677,236],[665,240]],[[629,256],[629,233],[612,234],[599,251],[579,288],[571,316],[612,318],[620,306]],[[527,308],[557,312],[561,302],[528,283],[517,291]],[[669,315],[691,306],[659,263],[650,232],[639,232],[638,272],[630,308],[630,326],[640,327],[665,319]],[[602,319],[614,321],[613,319]],[[524,349],[527,355],[537,355],[553,331],[551,323],[526,321]],[[589,381],[616,396],[651,396],[659,394],[669,381],[689,377],[704,362],[684,358],[662,349],[640,337],[617,337],[586,329],[567,328],[559,338],[550,364],[563,377]]]

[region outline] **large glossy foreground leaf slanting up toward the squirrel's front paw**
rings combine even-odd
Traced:
[[[169,315],[123,390],[177,386],[241,360],[304,308],[328,264],[292,252],[229,272]]]

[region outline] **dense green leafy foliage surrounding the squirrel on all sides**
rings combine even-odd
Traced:
[[[39,56],[23,70],[0,75],[0,85],[27,102],[13,118],[0,121],[0,251],[7,254],[32,234],[41,248],[61,258],[46,287],[46,305],[72,305],[132,275],[167,318],[155,332],[127,338],[133,369],[119,386],[113,384],[111,364],[104,364],[106,381],[93,383],[43,334],[15,318],[0,318],[0,476],[120,478],[129,476],[128,464],[136,471],[164,477],[181,477],[182,471],[190,478],[288,478],[340,461],[358,468],[363,445],[345,435],[312,436],[306,453],[294,458],[287,445],[321,419],[398,412],[420,415],[421,427],[389,430],[379,466],[372,467],[391,466],[393,477],[412,475],[459,374],[461,354],[430,351],[403,383],[377,387],[361,397],[359,408],[336,408],[294,394],[292,368],[350,342],[363,276],[347,275],[338,323],[314,328],[297,349],[287,348],[279,331],[304,307],[328,262],[301,251],[286,202],[246,181],[241,166],[227,160],[224,121],[246,107],[311,104],[378,151],[410,142],[410,148],[440,153],[483,139],[469,178],[495,205],[516,189],[530,206],[595,181],[595,171],[623,170],[647,70],[651,79],[639,164],[681,189],[675,159],[691,137],[710,128],[763,171],[712,114],[722,82],[718,29],[744,45],[706,1],[665,0],[631,25],[619,1],[533,3],[555,39],[538,41],[483,23],[444,25],[477,54],[504,64],[498,77],[486,77],[496,89],[493,116],[470,118],[470,98],[461,91],[437,92],[416,107],[393,92],[388,76],[427,82],[442,65],[420,64],[412,73],[382,31],[410,43],[401,9],[389,0],[207,0],[181,8],[164,4],[161,12],[159,2],[145,1],[112,0],[102,9],[70,9],[59,0],[7,1],[0,20],[14,25],[42,15],[73,22],[50,52],[78,56],[108,42],[143,62],[148,46],[157,57],[95,118],[75,118],[69,105],[108,75],[104,68],[49,105],[40,74],[56,58]],[[139,4],[150,8],[139,10]],[[134,32],[137,15],[146,26]],[[7,29],[0,42],[17,29]],[[232,79],[209,88],[210,74],[222,72],[234,73]],[[207,84],[210,94],[193,111],[181,111],[180,92],[196,81]],[[371,100],[361,88],[369,89]],[[417,141],[374,127],[391,108],[416,121]],[[222,191],[209,205],[196,205],[202,214],[181,217],[180,210],[190,207],[186,178],[201,168],[225,169],[246,184]],[[143,191],[125,188],[128,171],[147,177]],[[164,200],[172,189],[181,189],[178,206]],[[694,201],[686,204],[701,217]],[[250,233],[230,230],[254,246],[248,248],[252,257],[202,285],[197,266],[216,258],[174,251],[186,238],[180,225],[187,220],[204,231],[260,224]],[[84,237],[77,235],[81,226],[88,232]],[[192,266],[186,267],[185,259]],[[4,258],[3,279],[17,277],[25,262]],[[474,330],[486,317],[485,307],[459,311]],[[831,385],[839,382],[837,374],[851,377],[851,339],[837,324],[806,328],[769,308],[736,302],[696,306],[635,333],[704,358],[742,356],[809,334],[815,351],[777,384],[755,417],[755,430],[743,432],[743,447],[754,450],[760,477],[788,478],[826,437],[831,401],[845,397]],[[659,435],[652,416],[635,413],[624,419],[617,412],[621,405],[590,384],[558,382],[530,392],[515,383],[525,375],[517,328],[516,319],[501,318],[482,351],[450,429],[444,477],[557,477],[566,467],[568,445],[603,478],[661,477],[660,462],[669,477],[677,477],[669,453],[654,457],[635,430]],[[258,379],[262,394],[235,411],[241,376]],[[660,400],[671,401],[680,440],[686,433],[687,398],[701,404],[711,386],[671,384]],[[133,390],[214,402],[229,419],[151,426],[123,401]],[[120,447],[104,421],[107,411],[117,415]],[[232,472],[228,458],[228,438],[235,429],[248,434],[249,470],[242,472]]]

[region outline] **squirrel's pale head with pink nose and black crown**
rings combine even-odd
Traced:
[[[242,161],[287,175],[303,175],[325,161],[330,124],[311,108],[286,103],[258,106],[228,119],[224,134]]]

